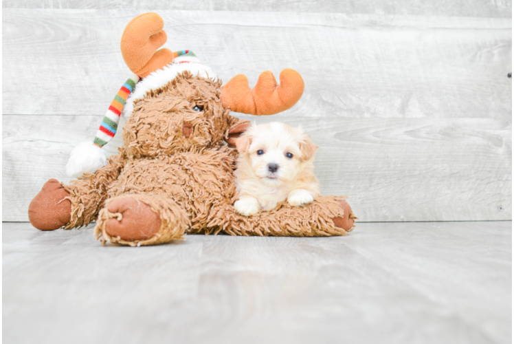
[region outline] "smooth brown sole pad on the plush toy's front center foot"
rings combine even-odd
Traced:
[[[161,228],[161,217],[148,204],[132,197],[120,197],[107,207],[109,213],[121,214],[108,219],[105,231],[111,237],[123,240],[146,240],[152,238]],[[118,220],[119,219],[119,220]]]

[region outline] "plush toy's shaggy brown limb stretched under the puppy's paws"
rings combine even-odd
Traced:
[[[227,204],[212,214],[208,233],[293,237],[346,235],[353,230],[356,218],[348,203],[337,196],[317,197],[313,203],[302,207],[284,202],[272,211],[249,217],[238,215],[234,207]]]

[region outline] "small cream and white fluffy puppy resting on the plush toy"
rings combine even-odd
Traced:
[[[318,147],[300,127],[251,125],[236,140],[236,148],[238,214],[269,211],[286,199],[291,206],[304,206],[320,195],[313,166]]]

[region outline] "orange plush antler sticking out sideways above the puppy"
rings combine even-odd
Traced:
[[[243,114],[273,115],[295,105],[303,92],[304,80],[293,69],[280,72],[278,86],[273,73],[263,72],[254,89],[250,89],[246,76],[238,74],[223,86],[221,102],[232,111]]]

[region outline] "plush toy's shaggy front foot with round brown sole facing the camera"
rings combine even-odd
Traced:
[[[122,195],[105,202],[95,235],[104,242],[155,245],[181,239],[190,226],[186,211],[164,195]]]

